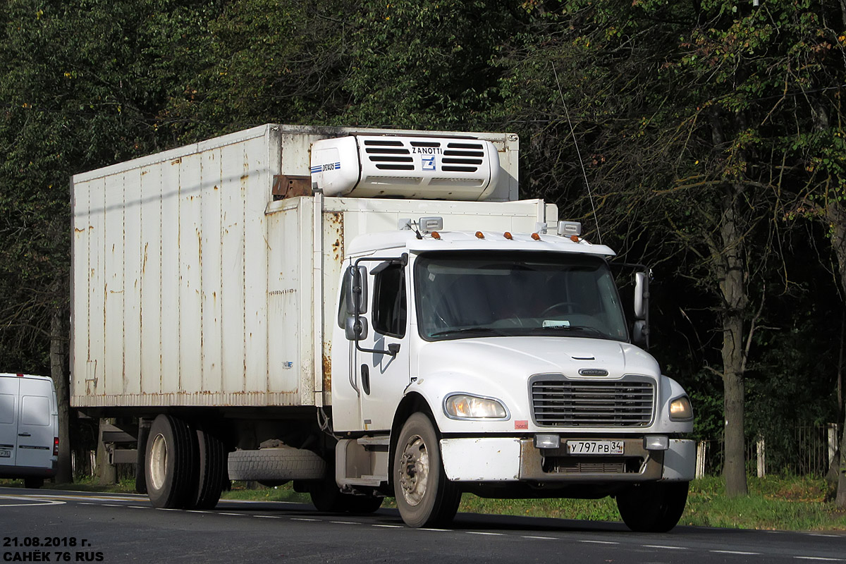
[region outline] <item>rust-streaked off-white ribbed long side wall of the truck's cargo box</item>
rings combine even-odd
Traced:
[[[301,403],[268,364],[278,143],[266,126],[74,177],[74,405]]]

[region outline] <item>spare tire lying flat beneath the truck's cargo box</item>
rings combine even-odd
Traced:
[[[322,479],[326,461],[315,452],[291,446],[230,452],[229,479]]]

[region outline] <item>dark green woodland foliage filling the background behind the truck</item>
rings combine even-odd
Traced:
[[[4,7],[2,370],[48,369],[76,172],[267,122],[509,130],[525,197],[653,266],[652,352],[694,398],[698,435],[722,432],[727,371],[744,374],[749,436],[836,415],[839,2]]]

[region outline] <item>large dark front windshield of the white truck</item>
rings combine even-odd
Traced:
[[[605,260],[560,253],[442,252],[415,261],[420,337],[591,337],[626,341]]]

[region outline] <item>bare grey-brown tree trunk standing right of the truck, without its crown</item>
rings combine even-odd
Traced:
[[[722,468],[728,496],[745,496],[744,440],[744,311],[746,295],[743,233],[738,226],[737,200],[743,186],[735,184],[722,199],[722,249],[717,267],[722,293],[722,381],[725,409],[725,463]]]

